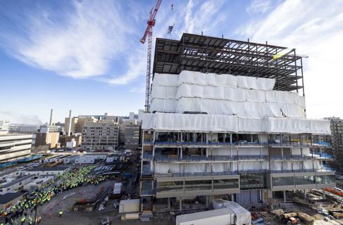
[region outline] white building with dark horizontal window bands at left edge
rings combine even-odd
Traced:
[[[32,134],[0,134],[0,163],[30,156]]]

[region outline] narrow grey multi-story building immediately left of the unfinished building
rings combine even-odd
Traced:
[[[127,121],[123,123],[125,126],[125,148],[136,150],[139,147],[141,123],[137,120]]]

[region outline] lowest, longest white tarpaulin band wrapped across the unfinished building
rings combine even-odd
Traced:
[[[330,121],[295,118],[248,119],[235,115],[154,113],[144,115],[142,129],[175,131],[267,132],[331,134]],[[152,118],[154,117],[154,118]],[[154,120],[153,122],[151,120]]]

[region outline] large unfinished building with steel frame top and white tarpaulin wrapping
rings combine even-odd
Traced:
[[[335,186],[331,155],[307,120],[295,49],[182,34],[156,39],[149,113],[142,123],[142,210],[287,201]],[[312,147],[316,146],[316,150]]]

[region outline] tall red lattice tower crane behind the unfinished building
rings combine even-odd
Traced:
[[[147,51],[147,63],[146,63],[146,89],[145,89],[145,111],[150,110],[150,81],[151,81],[151,46],[152,46],[152,27],[155,25],[155,16],[158,8],[161,5],[162,0],[156,0],[154,8],[151,8],[149,14],[149,20],[147,22],[146,30],[143,37],[140,39],[141,43],[144,44],[146,37],[148,37],[148,51]]]

